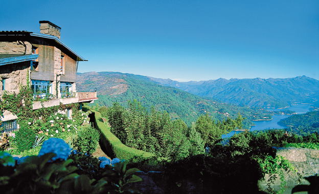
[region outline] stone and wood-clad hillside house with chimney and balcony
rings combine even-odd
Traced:
[[[29,78],[33,110],[97,100],[96,91],[76,91],[79,61],[86,60],[60,40],[60,27],[50,21],[39,23],[40,33],[0,31],[0,97],[5,91],[19,93],[20,85],[26,85]],[[38,101],[42,98],[47,101]],[[0,111],[3,127],[15,129],[17,117]]]

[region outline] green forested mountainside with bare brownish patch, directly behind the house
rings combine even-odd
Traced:
[[[167,111],[173,119],[183,119],[187,124],[196,121],[199,115],[209,113],[215,119],[233,118],[240,113],[248,119],[263,119],[271,115],[259,108],[241,107],[222,103],[212,98],[199,97],[180,89],[158,84],[153,79],[119,72],[89,72],[77,74],[77,91],[98,91],[99,105],[110,106],[119,102],[126,106],[128,100],[138,100],[143,106],[154,106]],[[252,122],[246,122],[249,127]]]

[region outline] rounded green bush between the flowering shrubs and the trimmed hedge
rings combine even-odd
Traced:
[[[79,128],[74,148],[81,153],[93,154],[99,145],[100,133],[92,126],[85,125]]]

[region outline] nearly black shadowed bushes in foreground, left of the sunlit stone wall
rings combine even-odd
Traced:
[[[262,178],[257,161],[247,155],[233,158],[222,148],[168,163],[164,170],[166,193],[259,193]]]

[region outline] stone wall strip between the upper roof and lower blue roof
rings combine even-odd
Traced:
[[[28,41],[0,42],[0,54],[32,54],[32,45]]]

